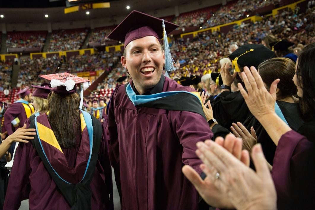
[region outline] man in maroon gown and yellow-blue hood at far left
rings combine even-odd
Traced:
[[[20,99],[15,101],[4,113],[4,127],[8,132],[8,135],[14,133],[18,128],[22,128],[27,118],[34,113],[34,107],[31,105],[32,93],[28,87],[20,90],[17,95]],[[11,155],[13,155],[15,143],[13,143],[9,149]]]

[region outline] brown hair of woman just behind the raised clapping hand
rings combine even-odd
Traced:
[[[273,81],[280,79],[277,86],[280,90],[277,94],[278,100],[297,93],[296,86],[292,80],[295,74],[295,63],[292,60],[288,58],[272,58],[262,62],[258,66],[258,71],[268,89]]]

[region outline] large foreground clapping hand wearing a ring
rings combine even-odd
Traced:
[[[237,139],[233,135],[231,137],[231,134],[227,138]],[[200,167],[229,206],[248,210],[277,209],[277,193],[260,144],[252,150],[256,172],[213,141],[198,142],[197,146],[196,153],[204,163]],[[249,160],[247,150],[243,150],[242,155]],[[203,188],[208,186],[200,181],[193,184],[200,195],[204,196],[207,189]]]

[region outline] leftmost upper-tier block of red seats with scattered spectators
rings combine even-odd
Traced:
[[[46,31],[8,32],[7,48],[42,48],[46,41]]]

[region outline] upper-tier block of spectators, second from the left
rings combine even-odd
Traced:
[[[48,52],[80,49],[88,31],[84,28],[53,31]]]

